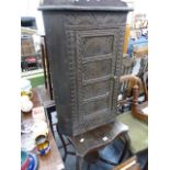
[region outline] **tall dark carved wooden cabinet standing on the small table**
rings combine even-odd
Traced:
[[[52,82],[61,133],[115,121],[126,16],[121,0],[44,0]]]

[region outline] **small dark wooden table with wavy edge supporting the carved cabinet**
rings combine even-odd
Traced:
[[[88,131],[83,134],[70,137],[70,141],[76,150],[76,170],[82,170],[83,160],[86,160],[90,166],[97,163],[98,160],[115,166],[115,162],[106,160],[99,155],[99,150],[105,146],[114,143],[117,138],[122,137],[124,139],[125,150],[127,138],[126,134],[128,127],[120,122],[110,123],[104,126],[100,126],[92,131]],[[118,162],[124,158],[124,149]]]

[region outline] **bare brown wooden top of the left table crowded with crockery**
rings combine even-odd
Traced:
[[[34,89],[32,101],[34,103],[34,109],[42,106],[38,94]],[[45,117],[45,113],[43,112],[41,116]],[[25,120],[33,120],[33,114],[22,114],[22,121]],[[48,134],[48,140],[50,144],[50,152],[48,152],[46,156],[38,156],[38,170],[63,170],[65,166],[50,129]]]

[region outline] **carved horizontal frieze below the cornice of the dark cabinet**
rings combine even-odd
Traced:
[[[112,27],[117,25],[125,25],[126,14],[122,12],[114,13],[94,13],[94,12],[71,12],[66,13],[65,26],[75,29],[84,27]]]

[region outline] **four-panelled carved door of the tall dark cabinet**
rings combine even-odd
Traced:
[[[91,129],[114,120],[118,30],[77,31],[78,121]]]

